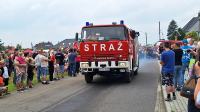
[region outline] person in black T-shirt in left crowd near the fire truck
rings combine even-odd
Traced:
[[[64,78],[64,71],[65,71],[64,59],[65,59],[65,56],[62,53],[61,49],[58,50],[58,52],[56,53],[55,57],[56,57],[56,62],[59,64],[61,77]]]

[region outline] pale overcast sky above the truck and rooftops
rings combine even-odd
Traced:
[[[74,38],[85,22],[110,24],[124,20],[140,31],[140,41],[158,40],[158,22],[166,37],[174,19],[183,27],[200,11],[200,0],[0,0],[0,38],[6,45],[31,47]]]

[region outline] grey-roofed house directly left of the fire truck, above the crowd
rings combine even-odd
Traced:
[[[74,42],[75,42],[74,39],[65,39],[65,40],[63,40],[61,42],[58,42],[56,45],[54,45],[54,48],[58,49],[58,48],[71,47]]]

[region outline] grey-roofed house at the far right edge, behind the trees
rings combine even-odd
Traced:
[[[183,31],[185,32],[200,32],[200,12],[197,17],[193,17],[184,27]]]

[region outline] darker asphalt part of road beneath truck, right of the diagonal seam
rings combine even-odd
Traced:
[[[159,68],[156,60],[141,60],[139,74],[129,84],[119,78],[96,77],[90,88],[47,109],[47,112],[153,112]]]

